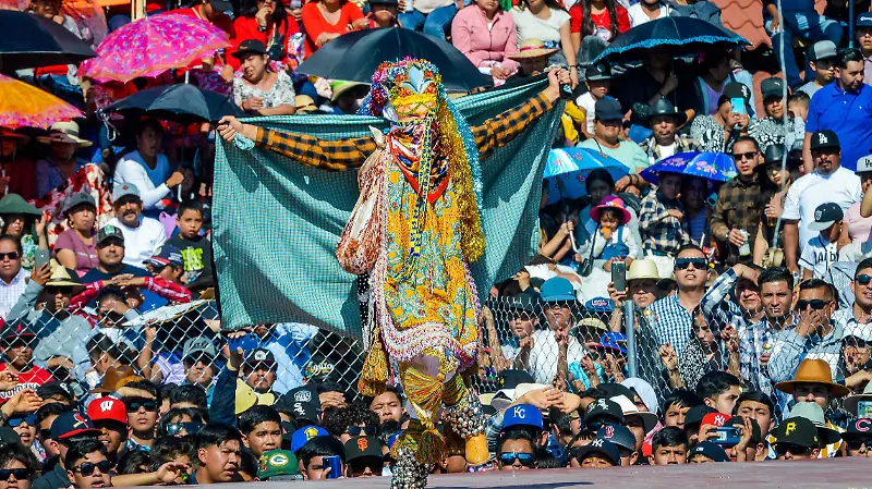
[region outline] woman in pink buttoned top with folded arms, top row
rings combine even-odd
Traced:
[[[458,12],[451,22],[451,41],[479,71],[495,81],[518,71],[518,62],[509,59],[518,52],[514,21],[497,0],[475,0]]]

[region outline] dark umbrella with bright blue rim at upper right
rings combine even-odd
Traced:
[[[618,35],[594,62],[643,61],[649,50],[661,46],[673,49],[674,57],[698,54],[705,48],[748,46],[743,37],[693,17],[665,17],[645,22]]]

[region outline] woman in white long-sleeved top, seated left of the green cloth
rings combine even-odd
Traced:
[[[132,183],[140,190],[143,215],[157,218],[164,209],[164,197],[184,180],[179,171],[170,171],[167,156],[161,152],[164,126],[145,119],[136,132],[136,149],[122,156],[116,166],[114,184]]]

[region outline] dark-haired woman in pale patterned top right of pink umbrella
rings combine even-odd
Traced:
[[[242,110],[255,115],[294,113],[293,82],[288,73],[269,70],[263,42],[246,39],[239,45],[233,57],[242,62],[242,78],[233,80],[233,100]]]

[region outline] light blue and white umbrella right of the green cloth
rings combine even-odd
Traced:
[[[543,178],[548,184],[548,204],[561,198],[588,195],[584,181],[596,169],[605,169],[616,181],[629,173],[629,168],[608,155],[589,148],[552,149]]]

